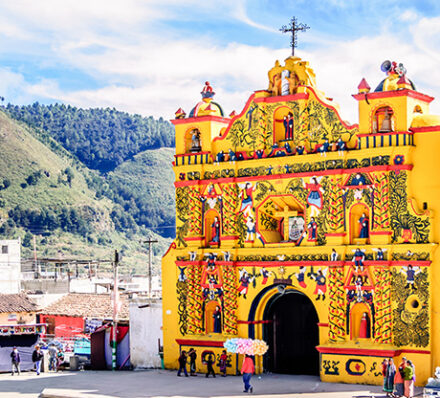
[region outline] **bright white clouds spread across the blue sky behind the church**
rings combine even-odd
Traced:
[[[208,35],[176,39],[163,30],[148,28],[144,20],[154,23],[178,13],[177,0],[168,0],[167,7],[159,1],[140,0],[44,0],[36,4],[15,1],[3,6],[2,18],[18,18],[20,28],[5,25],[0,35],[13,35],[14,29],[19,38],[32,35],[39,49],[44,47],[41,64],[78,70],[92,76],[101,88],[62,90],[57,79],[42,78],[31,84],[16,71],[0,71],[0,78],[4,76],[1,95],[13,97],[15,102],[46,98],[171,118],[179,107],[188,113],[199,101],[204,81],[209,80],[217,92],[215,99],[229,114],[232,109],[240,111],[254,90],[266,88],[267,71],[276,59],[282,61],[289,55],[288,48],[274,50],[240,43],[220,46]],[[194,0],[186,6],[195,4]],[[225,12],[264,30],[265,26],[249,19],[244,4],[227,1]],[[206,13],[214,8],[210,3],[201,5]],[[408,11],[401,17],[415,16]],[[430,95],[440,92],[440,52],[434,40],[440,33],[440,19],[417,21],[404,32],[405,40],[392,31],[346,41],[330,41],[315,34],[313,50],[298,51],[298,55],[315,69],[318,88],[341,105],[344,119],[354,123],[357,103],[351,94],[362,77],[372,89],[376,87],[384,78],[379,68],[385,59],[403,62],[420,91]],[[438,105],[433,110],[440,113]]]

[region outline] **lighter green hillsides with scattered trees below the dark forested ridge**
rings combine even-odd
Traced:
[[[0,111],[0,239],[21,236],[24,257],[33,235],[43,257],[108,258],[119,249],[136,266],[146,262],[140,241],[149,236],[159,239],[158,264],[174,233],[162,228],[174,224],[173,151],[139,152],[100,173],[52,135]]]

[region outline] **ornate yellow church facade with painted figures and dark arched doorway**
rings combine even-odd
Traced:
[[[308,62],[289,57],[239,114],[208,82],[176,129],[176,239],[163,257],[167,368],[197,370],[228,338],[263,339],[256,372],[381,384],[440,363],[440,118],[401,64],[362,79],[343,121]],[[228,354],[228,373],[242,358]],[[216,368],[218,370],[218,368]]]

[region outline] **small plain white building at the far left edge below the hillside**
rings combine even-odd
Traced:
[[[21,240],[0,240],[0,293],[20,293]]]

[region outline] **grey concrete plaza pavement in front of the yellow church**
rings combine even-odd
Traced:
[[[297,398],[385,397],[380,386],[322,383],[315,376],[268,374],[254,376],[254,396]],[[416,389],[421,394],[421,389]],[[104,397],[243,397],[239,376],[207,379],[177,377],[167,370],[23,372],[20,376],[0,374],[1,398],[104,398]]]

